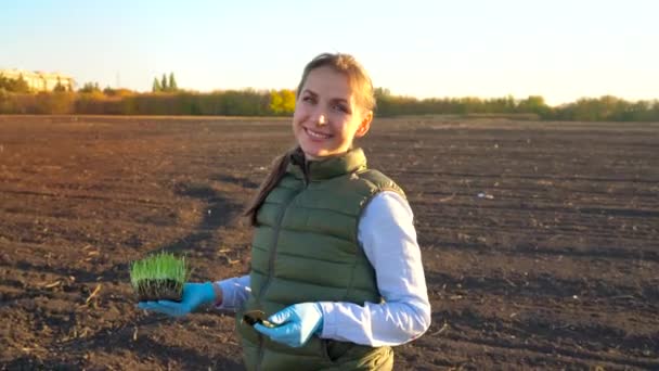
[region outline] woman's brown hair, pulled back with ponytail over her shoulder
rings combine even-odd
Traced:
[[[371,77],[369,77],[369,74],[364,67],[357,62],[352,55],[343,53],[323,53],[311,60],[311,62],[305,66],[302,78],[300,79],[300,84],[297,86],[296,100],[299,99],[309,74],[315,68],[325,66],[332,67],[334,71],[345,74],[346,77],[348,77],[348,84],[350,84],[350,88],[356,95],[354,98],[358,106],[364,111],[373,111],[375,108],[375,95]],[[286,153],[274,159],[270,174],[266,177],[259,187],[256,196],[254,200],[251,200],[251,203],[247,206],[245,213],[243,214],[249,219],[251,226],[256,226],[256,214],[258,209],[266,201],[266,197],[270,191],[276,187],[280,180],[282,180],[284,177],[284,174],[286,174],[286,168],[290,162],[290,156],[296,152],[300,152],[300,149],[297,146],[286,151]]]

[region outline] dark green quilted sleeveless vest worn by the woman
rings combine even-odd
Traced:
[[[251,295],[236,315],[248,370],[387,370],[390,347],[369,347],[312,336],[300,348],[270,341],[242,321],[305,302],[379,303],[375,272],[359,245],[358,222],[378,192],[404,196],[389,178],[366,169],[361,149],[305,163],[290,156],[286,175],[257,213],[251,244]]]

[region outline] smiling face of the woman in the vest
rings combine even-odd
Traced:
[[[312,69],[297,98],[293,132],[307,159],[338,155],[371,127],[373,112],[358,106],[348,77],[332,67]]]

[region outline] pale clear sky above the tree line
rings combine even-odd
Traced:
[[[293,89],[322,52],[416,98],[659,99],[655,0],[3,0],[0,68],[78,86]]]

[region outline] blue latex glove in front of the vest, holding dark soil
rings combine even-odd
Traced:
[[[297,348],[323,331],[323,309],[318,303],[295,304],[270,316],[268,321],[276,327],[257,323],[254,329],[275,342]]]

